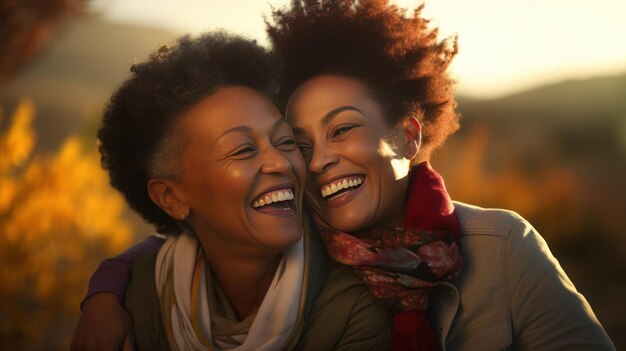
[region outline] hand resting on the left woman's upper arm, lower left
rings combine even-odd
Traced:
[[[72,351],[134,350],[132,320],[112,293],[99,293],[83,304]]]

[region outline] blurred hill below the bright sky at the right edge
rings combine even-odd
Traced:
[[[555,141],[576,157],[579,152],[626,153],[626,73],[560,82],[494,100],[461,97],[459,109],[463,123],[488,123],[525,154]]]

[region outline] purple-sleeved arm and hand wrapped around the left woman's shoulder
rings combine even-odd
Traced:
[[[131,267],[138,258],[158,251],[164,240],[151,236],[120,255],[104,260],[89,280],[72,350],[132,350],[132,321],[124,309]]]

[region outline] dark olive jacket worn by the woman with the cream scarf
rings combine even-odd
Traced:
[[[288,350],[387,350],[391,314],[379,305],[352,269],[331,262],[305,218],[302,302]],[[169,350],[154,267],[157,253],[133,263],[126,308],[134,322],[137,350]]]

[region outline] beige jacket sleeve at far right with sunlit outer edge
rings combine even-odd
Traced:
[[[587,300],[528,222],[515,225],[506,250],[516,349],[615,349]]]

